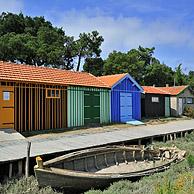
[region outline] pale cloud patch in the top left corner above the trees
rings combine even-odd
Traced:
[[[0,13],[13,12],[18,13],[23,9],[22,0],[0,0]]]

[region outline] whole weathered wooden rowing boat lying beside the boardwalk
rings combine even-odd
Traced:
[[[66,154],[34,167],[40,186],[74,190],[104,188],[121,179],[161,172],[184,159],[185,151],[144,146],[109,146]]]

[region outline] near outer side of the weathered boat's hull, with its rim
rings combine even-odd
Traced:
[[[39,169],[35,168],[39,186],[50,185],[53,188],[66,188],[70,190],[86,191],[91,188],[99,189],[109,186],[111,183],[128,179],[131,181],[138,180],[143,176],[149,176],[156,172],[162,172],[170,167],[171,163],[165,164],[158,168],[148,169],[146,171],[124,173],[124,174],[90,174],[73,172],[64,169]]]

